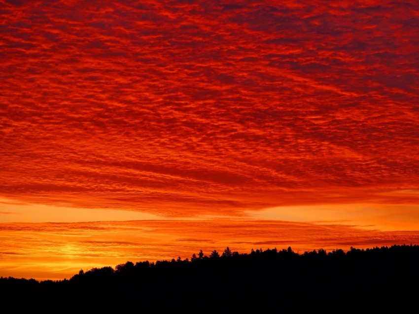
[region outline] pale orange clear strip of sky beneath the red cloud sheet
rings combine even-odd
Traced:
[[[166,217],[122,209],[77,208],[39,205],[0,198],[6,211],[0,212],[1,222],[99,222],[130,220],[272,220],[313,224],[342,224],[359,229],[380,231],[418,231],[417,205],[398,205],[392,213],[391,204],[306,205],[265,208],[243,211],[240,216],[197,215],[193,217]],[[0,216],[0,217],[1,217]],[[418,220],[415,220],[418,219]],[[390,220],[390,222],[389,222]]]

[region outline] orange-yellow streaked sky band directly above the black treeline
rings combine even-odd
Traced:
[[[341,224],[279,220],[132,220],[0,223],[2,277],[70,279],[80,269],[132,261],[190,259],[227,246],[232,251],[278,250],[297,253],[348,251],[415,244],[418,231],[363,230]],[[4,274],[4,275],[3,275]]]

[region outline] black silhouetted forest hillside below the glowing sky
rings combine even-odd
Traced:
[[[419,313],[419,246],[201,250],[62,281],[1,277],[0,295],[7,313]]]

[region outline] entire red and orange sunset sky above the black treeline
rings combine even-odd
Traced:
[[[419,244],[419,3],[0,0],[0,276]]]

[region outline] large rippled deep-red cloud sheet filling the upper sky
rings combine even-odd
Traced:
[[[168,217],[417,203],[415,1],[3,1],[0,195]]]

